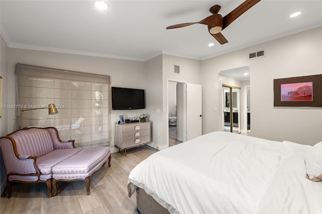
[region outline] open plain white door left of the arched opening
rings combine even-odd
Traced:
[[[201,85],[187,83],[187,141],[202,135]]]

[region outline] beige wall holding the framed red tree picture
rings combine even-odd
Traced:
[[[251,135],[314,145],[322,140],[321,108],[274,108],[273,79],[322,74],[322,28],[287,36],[202,61],[203,133],[220,130],[218,71],[251,69]],[[248,59],[265,49],[266,56]],[[214,107],[218,111],[214,112]],[[216,121],[214,123],[214,121]]]

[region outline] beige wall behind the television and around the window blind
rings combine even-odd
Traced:
[[[17,63],[110,75],[111,86],[145,89],[144,62],[9,48],[8,104],[17,103],[15,89],[15,65]],[[110,146],[112,152],[114,152],[114,124],[118,122],[118,116],[123,114],[125,118],[138,117],[144,110],[111,111],[111,106],[109,107],[109,111],[111,112],[109,121],[111,123]],[[7,132],[18,129],[17,111],[10,110],[8,112],[8,118]]]

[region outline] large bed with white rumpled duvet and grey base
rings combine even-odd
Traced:
[[[128,195],[138,191],[142,214],[322,213],[320,174],[322,142],[213,132],[139,163],[130,172]]]

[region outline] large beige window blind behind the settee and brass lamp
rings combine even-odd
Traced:
[[[24,127],[55,127],[75,146],[109,145],[110,76],[16,65],[18,106]],[[58,114],[48,115],[54,103]],[[45,108],[45,109],[42,109]]]

